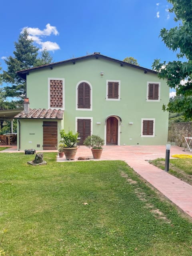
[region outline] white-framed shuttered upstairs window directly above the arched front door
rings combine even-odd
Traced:
[[[106,100],[120,100],[120,81],[107,80]]]

